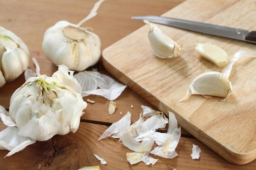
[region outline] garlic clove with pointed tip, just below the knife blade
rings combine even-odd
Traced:
[[[181,53],[182,47],[165,35],[155,24],[147,20],[144,20],[144,22],[150,26],[148,31],[150,49],[157,57],[171,58]]]

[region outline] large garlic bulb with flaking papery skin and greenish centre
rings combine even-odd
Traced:
[[[5,132],[13,134],[7,137],[0,132],[0,148],[11,151],[6,156],[35,141],[76,132],[87,106],[81,97],[81,86],[65,65],[59,66],[52,77],[47,77],[40,75],[39,65],[35,59],[33,61],[37,77],[29,77],[13,93],[9,113],[0,110],[3,123],[9,126]]]

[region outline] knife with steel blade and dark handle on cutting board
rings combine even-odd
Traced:
[[[134,16],[132,17],[132,19],[148,20],[149,22],[154,22],[157,24],[173,26],[181,29],[186,29],[189,31],[195,31],[209,35],[216,35],[220,37],[231,38],[235,40],[241,40],[256,44],[256,31],[247,31],[244,29],[231,28],[227,26],[219,26],[202,22],[180,20],[155,15]]]

